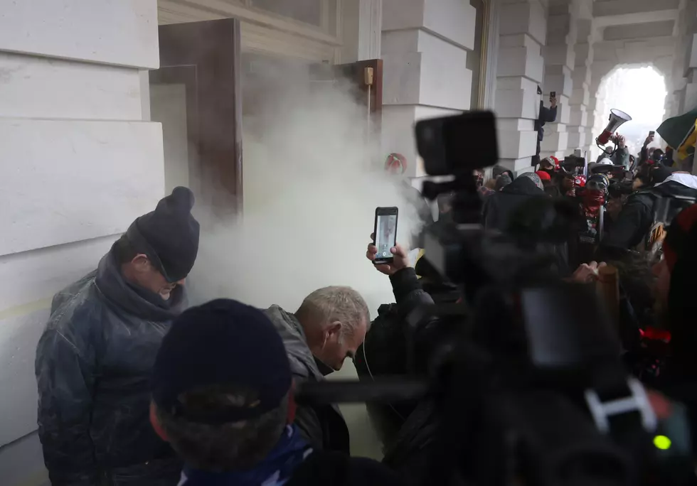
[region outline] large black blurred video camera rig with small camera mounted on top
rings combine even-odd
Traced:
[[[498,162],[490,112],[420,121],[416,142],[426,172],[449,176],[422,193],[454,192],[452,223],[427,229],[425,255],[458,284],[462,303],[405,318],[408,376],[305,384],[299,399],[432,401],[438,423],[415,484],[687,484],[687,441],[664,429],[647,392],[627,376],[594,289],[560,281],[553,258],[539,251],[563,239],[573,210],[538,198],[508,234],[482,227],[473,171]],[[418,369],[413,349],[423,326],[449,335]],[[673,446],[664,448],[664,438]]]

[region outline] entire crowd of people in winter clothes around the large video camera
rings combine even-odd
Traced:
[[[690,317],[697,309],[689,295],[697,177],[673,172],[662,151],[647,148],[649,139],[632,167],[618,137],[617,150],[587,166],[583,178],[578,161],[553,158],[518,177],[502,166],[488,181],[477,172],[482,221],[505,233],[530,200],[576,207],[582,226],[552,245],[560,279],[591,282],[606,265],[596,261],[617,266],[628,369],[697,412]],[[422,470],[432,406],[390,406],[400,430],[393,436],[408,436],[403,443],[413,447],[385,443],[378,463],[351,458],[336,405],[297,404],[294,389],[321,382],[347,358],[359,373],[370,357],[373,372],[404,374],[405,316],[457,302],[457,287],[427,259],[413,268],[397,244],[390,263],[374,264],[390,279],[395,303],[381,306],[372,323],[361,295],[345,286],[319,288],[292,311],[228,299],[187,308],[200,232],[193,203],[190,190],[176,188],[133,222],[92,274],[53,299],[36,351],[39,435],[52,484],[390,485]],[[447,221],[447,199],[440,209]],[[584,243],[587,252],[579,249]],[[368,244],[366,264],[377,252]],[[415,330],[416,345],[434,345],[436,326],[431,320]],[[654,348],[644,341],[657,328],[666,346],[647,352]],[[366,350],[366,335],[393,352]]]

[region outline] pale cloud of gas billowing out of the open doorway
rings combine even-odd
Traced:
[[[403,244],[419,223],[405,181],[383,171],[387,154],[366,144],[367,108],[348,85],[310,81],[307,67],[244,79],[244,215],[204,225],[193,303],[227,297],[295,311],[316,288],[346,285],[374,318],[394,301],[365,256],[375,208],[399,207]]]

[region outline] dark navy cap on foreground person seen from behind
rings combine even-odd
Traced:
[[[262,311],[229,299],[185,311],[162,340],[152,374],[152,396],[172,416],[197,423],[254,419],[280,406],[292,384],[283,341]],[[248,404],[195,414],[180,401],[186,392],[214,385],[255,394]]]

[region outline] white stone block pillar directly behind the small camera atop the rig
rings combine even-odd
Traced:
[[[469,109],[475,13],[462,0],[383,0],[382,148],[405,156],[408,177],[425,175],[415,121]]]

